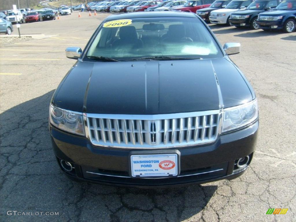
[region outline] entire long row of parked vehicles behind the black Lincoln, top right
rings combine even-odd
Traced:
[[[293,32],[296,0],[168,0],[100,1],[88,4],[96,12],[193,12],[205,22],[235,27]]]

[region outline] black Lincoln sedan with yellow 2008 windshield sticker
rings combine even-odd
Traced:
[[[112,15],[95,30],[49,105],[57,162],[73,180],[123,186],[240,176],[258,132],[255,93],[193,13]]]

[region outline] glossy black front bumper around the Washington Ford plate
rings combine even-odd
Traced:
[[[257,140],[258,121],[247,128],[222,134],[211,144],[179,148],[181,173],[170,178],[131,178],[128,157],[131,150],[93,146],[88,139],[50,126],[54,154],[70,162],[73,178],[122,186],[169,186],[205,183],[241,175],[250,164]],[[153,154],[155,150],[149,150]],[[244,168],[236,168],[239,158],[248,156]]]

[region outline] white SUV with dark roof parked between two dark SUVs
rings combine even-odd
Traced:
[[[232,12],[243,11],[251,4],[252,0],[233,0],[224,9],[217,9],[211,12],[210,22],[214,24],[228,24]]]

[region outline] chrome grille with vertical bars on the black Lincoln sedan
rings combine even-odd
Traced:
[[[130,149],[213,142],[220,132],[222,117],[219,110],[165,115],[83,115],[92,144]]]

